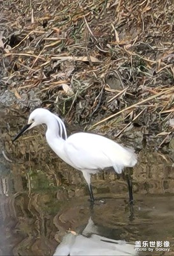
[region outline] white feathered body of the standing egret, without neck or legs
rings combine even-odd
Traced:
[[[64,152],[78,170],[103,170],[114,168],[121,173],[124,166],[132,167],[137,159],[133,150],[115,141],[87,132],[75,133],[64,142]]]

